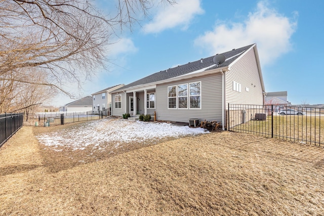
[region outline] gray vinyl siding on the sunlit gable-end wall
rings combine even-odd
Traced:
[[[226,104],[263,104],[262,85],[254,49],[235,62],[230,71],[225,72],[225,79]],[[241,84],[241,92],[233,90],[233,81]]]

